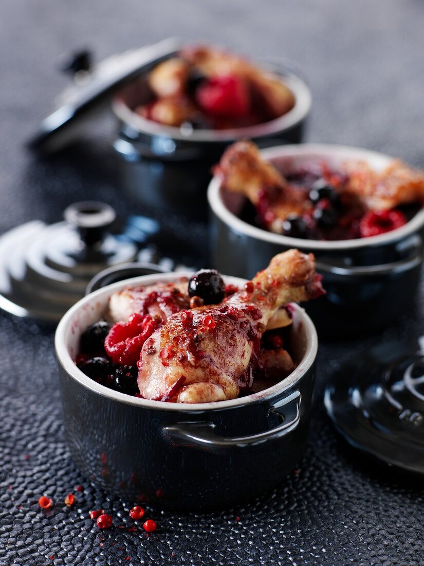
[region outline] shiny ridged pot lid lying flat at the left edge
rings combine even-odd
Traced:
[[[64,222],[27,222],[0,237],[0,308],[18,316],[59,321],[84,297],[102,269],[137,259],[139,247],[108,228],[109,205],[72,204]]]

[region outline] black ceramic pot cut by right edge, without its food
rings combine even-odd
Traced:
[[[337,145],[286,145],[262,152],[284,170],[326,161],[335,168],[348,159],[362,159],[380,170],[391,157]],[[273,234],[239,218],[245,204],[220,179],[211,181],[211,241],[214,267],[250,278],[274,255],[296,247],[317,259],[327,295],[306,306],[320,336],[338,338],[373,332],[414,306],[422,265],[424,211],[386,234],[356,240],[322,242]]]

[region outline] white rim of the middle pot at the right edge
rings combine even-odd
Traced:
[[[296,157],[296,156],[309,156],[309,157],[339,157],[339,158],[360,158],[370,165],[377,168],[387,166],[393,157],[378,153],[369,149],[362,149],[351,147],[348,145],[331,145],[331,144],[301,144],[301,145],[279,145],[261,151],[262,157],[267,160],[276,160],[280,157]],[[299,247],[302,249],[308,248],[311,251],[330,251],[330,250],[352,250],[353,248],[362,248],[366,246],[380,246],[391,242],[399,241],[410,234],[416,233],[417,230],[424,225],[424,208],[418,211],[417,214],[406,222],[401,228],[392,230],[385,234],[378,236],[371,236],[369,238],[358,238],[351,240],[338,240],[338,241],[315,241],[305,240],[300,238],[290,238],[281,234],[274,234],[262,228],[257,228],[244,222],[239,217],[234,215],[228,210],[223,202],[222,194],[222,181],[219,177],[214,177],[209,183],[207,189],[207,200],[209,201],[210,208],[214,214],[236,231],[246,234],[251,238],[259,239],[265,242],[274,243],[276,245],[285,247]]]

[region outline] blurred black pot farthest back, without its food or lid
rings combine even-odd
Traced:
[[[282,117],[236,130],[188,130],[142,118],[133,109],[149,91],[145,76],[133,80],[113,100],[120,135],[114,147],[122,156],[124,186],[140,203],[163,212],[197,219],[207,216],[206,188],[210,169],[233,141],[250,138],[262,147],[300,143],[310,112],[311,94],[299,76],[284,66],[258,63],[279,75],[292,90],[296,104]]]

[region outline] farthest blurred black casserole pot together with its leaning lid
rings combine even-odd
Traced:
[[[201,218],[207,215],[206,188],[210,168],[235,140],[252,138],[262,147],[300,143],[310,113],[311,92],[287,62],[257,62],[277,75],[292,92],[295,105],[269,122],[227,130],[165,126],[142,118],[137,106],[148,104],[152,92],[148,74],[175,58],[184,44],[168,38],[154,45],[116,54],[94,65],[90,53],[76,55],[67,66],[75,84],[58,98],[59,107],[49,115],[28,141],[42,154],[59,151],[89,130],[90,121],[110,108],[118,118],[114,149],[123,188],[135,195],[150,214]]]

